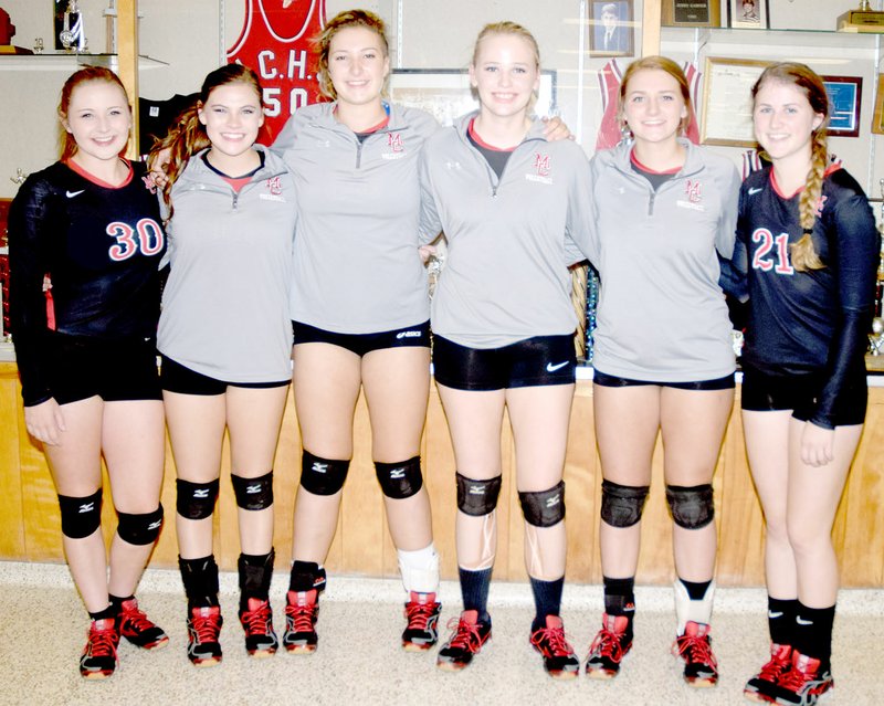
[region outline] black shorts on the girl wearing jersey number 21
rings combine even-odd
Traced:
[[[792,410],[792,417],[802,422],[811,419],[825,387],[822,375],[768,375],[755,368],[743,368],[743,396],[740,407],[750,412]],[[857,368],[844,382],[844,390],[835,410],[832,424],[848,426],[862,424],[869,404],[869,383],[865,370]]]

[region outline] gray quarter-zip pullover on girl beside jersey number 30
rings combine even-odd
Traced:
[[[192,157],[172,187],[167,229],[171,271],[162,293],[158,348],[197,372],[228,382],[275,382],[292,375],[292,239],[295,189],[282,159],[239,193]]]

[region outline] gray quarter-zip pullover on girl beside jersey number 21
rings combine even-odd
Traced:
[[[691,382],[734,371],[716,250],[734,250],[739,177],[724,157],[683,141],[682,170],[654,192],[631,146],[592,158],[601,289],[593,366],[635,380]]]

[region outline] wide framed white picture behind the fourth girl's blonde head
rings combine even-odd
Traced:
[[[427,110],[442,125],[478,108],[470,87],[470,74],[460,69],[393,69],[390,72],[390,99]],[[552,115],[556,107],[556,72],[540,72],[540,88],[534,112]]]

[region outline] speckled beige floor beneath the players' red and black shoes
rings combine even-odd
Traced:
[[[274,577],[272,602],[283,623],[286,577]],[[397,581],[330,577],[322,600],[319,649],[311,656],[280,653],[250,660],[236,621],[236,581],[222,577],[224,661],[193,668],[185,654],[185,602],[176,572],[150,570],[139,590],[141,607],[170,635],[154,653],[129,644],[119,651],[113,678],[88,683],[76,668],[87,622],[63,566],[0,562],[0,704],[161,706],[263,704],[522,704],[642,706],[740,704],[743,684],[765,660],[765,597],[758,589],[719,589],[713,625],[722,679],[691,689],[670,656],[672,591],[641,588],[635,646],[613,682],[550,679],[528,644],[533,614],[527,584],[495,584],[494,636],[460,674],[434,666],[434,652],[404,653],[401,586]],[[442,623],[459,612],[454,583],[441,589]],[[601,609],[599,587],[567,586],[562,617],[581,656]],[[842,591],[835,622],[834,703],[884,703],[884,591]]]

